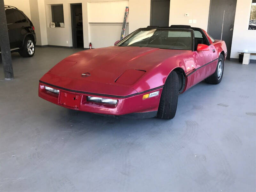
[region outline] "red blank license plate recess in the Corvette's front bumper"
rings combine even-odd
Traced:
[[[60,92],[59,104],[71,108],[79,108],[82,100],[82,95]]]

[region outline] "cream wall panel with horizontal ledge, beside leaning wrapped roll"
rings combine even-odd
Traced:
[[[129,6],[129,1],[87,3],[88,32],[92,48],[112,46],[120,39],[126,6]],[[128,26],[125,31],[125,35],[127,34]]]

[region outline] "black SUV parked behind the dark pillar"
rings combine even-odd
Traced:
[[[4,5],[4,8],[11,52],[19,52],[22,57],[32,57],[36,45],[36,33],[32,22],[16,7]]]

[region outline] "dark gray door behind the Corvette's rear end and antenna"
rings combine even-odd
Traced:
[[[230,58],[235,13],[236,0],[211,0],[210,2],[208,34],[214,39],[221,39],[221,29],[224,14],[222,40],[224,40],[227,45],[227,59]]]

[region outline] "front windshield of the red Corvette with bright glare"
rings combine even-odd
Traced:
[[[156,47],[160,49],[192,49],[192,30],[144,28],[134,31],[116,46]]]

